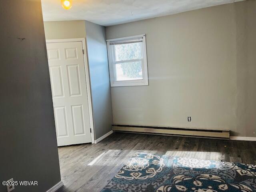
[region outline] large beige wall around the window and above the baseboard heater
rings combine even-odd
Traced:
[[[107,27],[107,39],[147,41],[149,86],[111,88],[114,123],[255,136],[253,10],[247,0]]]

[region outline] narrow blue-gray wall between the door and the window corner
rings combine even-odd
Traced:
[[[105,27],[85,22],[95,138],[112,130],[112,104]]]

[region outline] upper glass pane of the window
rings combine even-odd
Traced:
[[[116,61],[141,59],[142,42],[115,45]]]

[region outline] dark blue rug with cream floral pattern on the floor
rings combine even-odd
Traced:
[[[138,152],[102,192],[256,192],[256,165]]]

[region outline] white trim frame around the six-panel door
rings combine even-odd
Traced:
[[[89,66],[86,55],[86,44],[85,38],[74,38],[74,39],[46,39],[46,43],[63,43],[63,42],[82,42],[83,53],[84,53],[84,68],[85,68],[85,76],[86,76],[86,90],[88,97],[88,106],[89,106],[89,118],[90,118],[90,128],[92,143],[95,142],[94,138],[94,124],[93,124],[93,116],[92,116],[92,98],[91,98],[91,86],[90,86],[90,76],[89,76]]]

